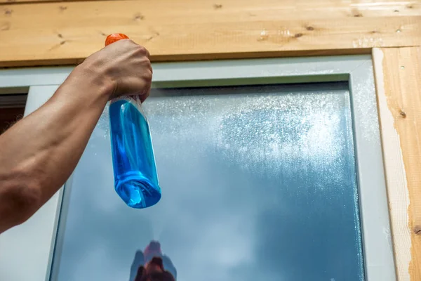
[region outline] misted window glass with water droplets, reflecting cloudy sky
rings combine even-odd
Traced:
[[[346,83],[154,89],[144,105],[161,202],[114,191],[105,113],[66,186],[53,280],[129,281],[154,255],[181,281],[364,279]]]

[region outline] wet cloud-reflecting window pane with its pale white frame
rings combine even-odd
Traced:
[[[372,72],[367,56],[155,65],[163,198],[116,195],[104,114],[56,197],[51,280],[128,280],[151,240],[178,280],[394,280]]]

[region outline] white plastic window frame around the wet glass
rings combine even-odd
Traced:
[[[153,68],[154,87],[348,81],[366,280],[396,280],[370,55],[156,63]],[[29,87],[26,116],[53,95],[72,69],[0,70],[0,93]],[[61,206],[62,189],[26,223],[0,235],[0,280],[50,280]]]

